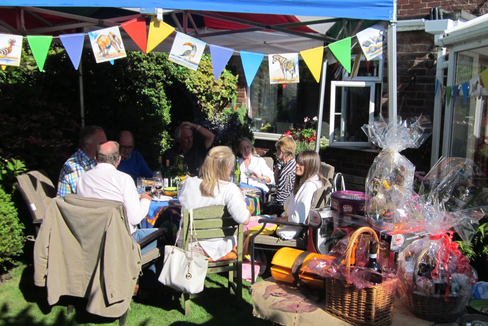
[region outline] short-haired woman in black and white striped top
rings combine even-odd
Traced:
[[[284,136],[280,138],[276,144],[276,156],[279,163],[276,164],[274,175],[276,184],[278,185],[276,197],[263,210],[263,214],[277,214],[283,213],[283,204],[286,198],[291,194],[293,185],[295,184],[295,152],[297,150],[297,143],[291,137]],[[282,207],[277,207],[281,205]]]

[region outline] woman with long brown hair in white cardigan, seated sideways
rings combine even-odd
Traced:
[[[280,219],[304,224],[310,210],[313,194],[328,181],[320,173],[320,157],[316,151],[304,150],[298,153],[296,159],[296,177],[293,191],[285,200],[282,217]],[[278,224],[278,223],[277,223]],[[301,227],[284,225],[276,233],[285,240],[298,236]]]

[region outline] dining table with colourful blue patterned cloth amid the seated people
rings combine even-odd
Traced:
[[[259,188],[252,185],[247,185],[241,183],[241,188],[252,188],[258,190]],[[245,196],[245,203],[247,209],[252,216],[257,216],[261,214],[262,201],[260,196]],[[169,209],[169,211],[167,211]],[[152,201],[149,205],[149,211],[147,212],[146,218],[141,221],[141,228],[153,228],[153,227],[166,227],[171,229],[171,223],[173,222],[173,229],[176,225],[180,225],[179,217],[181,216],[181,205],[179,205],[178,199],[174,198],[169,202],[157,202]],[[164,219],[164,221],[158,221],[158,219]],[[176,219],[178,218],[178,221]],[[176,232],[177,230],[173,230]]]

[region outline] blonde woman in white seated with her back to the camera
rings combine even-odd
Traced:
[[[237,223],[247,225],[250,213],[244,195],[237,185],[227,181],[234,162],[235,156],[229,147],[212,148],[203,160],[199,176],[186,178],[182,185],[182,193],[179,197],[182,212],[185,208],[225,205]],[[231,236],[199,241],[199,243],[204,254],[216,261],[232,250],[237,244],[237,239]],[[181,246],[181,243],[179,245]]]

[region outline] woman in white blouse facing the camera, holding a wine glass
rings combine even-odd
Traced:
[[[262,188],[264,190],[264,198],[269,192],[268,184],[275,184],[273,170],[269,168],[263,158],[257,157],[256,149],[247,137],[242,137],[237,140],[237,152],[241,155],[239,159],[239,169],[241,170],[241,183],[248,183],[249,185]],[[247,177],[244,175],[246,168],[252,169],[252,175]]]

